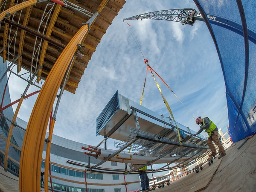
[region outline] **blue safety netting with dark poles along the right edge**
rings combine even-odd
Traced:
[[[194,2],[218,52],[226,86],[229,134],[237,142],[256,133],[256,1]]]

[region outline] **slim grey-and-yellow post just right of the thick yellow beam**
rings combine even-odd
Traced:
[[[73,58],[71,59],[70,61],[70,64],[69,64],[69,67],[67,68],[67,71],[66,71],[66,75],[64,76],[64,83],[61,87],[61,91],[59,93],[59,96],[58,96],[58,99],[57,99],[57,102],[56,102],[56,105],[55,105],[55,110],[54,110],[54,113],[52,115],[52,124],[49,128],[49,135],[48,135],[48,139],[50,140],[48,143],[47,143],[47,148],[46,148],[46,155],[45,155],[45,167],[44,167],[44,181],[45,181],[45,190],[48,191],[48,170],[49,170],[49,158],[50,158],[50,149],[51,149],[51,144],[52,144],[52,133],[53,133],[53,128],[54,128],[54,125],[55,125],[55,121],[56,121],[56,115],[57,115],[57,111],[58,111],[58,107],[59,107],[59,104],[60,104],[60,101],[61,101],[61,96],[64,92],[64,87],[68,81],[68,74],[69,74],[69,71],[71,70],[71,66],[72,66],[72,63],[73,63],[73,60],[74,60],[75,56],[73,56]]]

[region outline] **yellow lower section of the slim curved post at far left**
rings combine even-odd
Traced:
[[[18,103],[18,106],[16,108],[16,111],[14,113],[14,116],[12,118],[12,122],[16,121],[18,112],[20,111],[20,106],[23,102],[23,97],[20,98],[20,102]],[[12,130],[13,130],[14,124],[12,123],[9,129],[9,133],[8,133],[8,137],[7,137],[7,141],[6,141],[6,150],[5,150],[5,154],[4,154],[4,170],[7,170],[7,162],[8,162],[8,153],[9,153],[9,147],[10,147],[10,141],[11,141],[11,137],[12,137]]]

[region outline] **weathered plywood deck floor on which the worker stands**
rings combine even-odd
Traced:
[[[249,139],[240,149],[244,140],[231,145],[226,156],[209,166],[204,165],[199,173],[189,175],[171,182],[169,186],[155,189],[155,192],[195,192],[218,191],[233,192],[256,190],[256,136]],[[0,192],[18,192],[19,178],[4,172],[0,167]]]

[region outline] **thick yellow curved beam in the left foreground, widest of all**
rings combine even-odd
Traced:
[[[20,157],[20,192],[40,191],[41,158],[44,147],[44,137],[47,130],[50,113],[53,107],[58,87],[80,44],[88,31],[88,25],[79,29],[76,35],[65,47],[38,95],[29,118]]]

